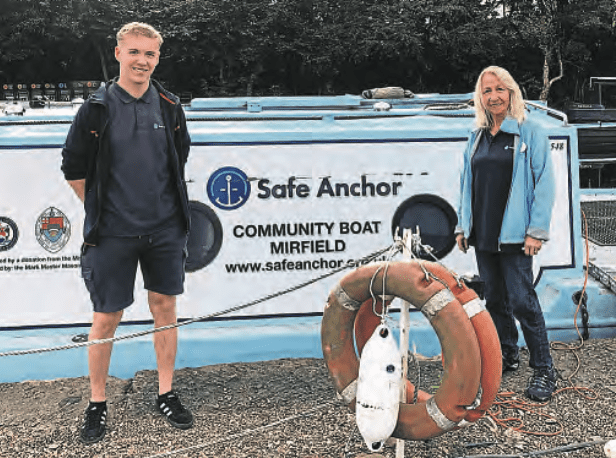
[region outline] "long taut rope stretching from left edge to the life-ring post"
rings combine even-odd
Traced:
[[[177,322],[177,323],[173,323],[173,324],[169,324],[167,326],[161,326],[158,328],[152,328],[152,329],[146,329],[144,331],[139,331],[139,332],[135,332],[133,334],[126,334],[126,335],[122,335],[122,336],[116,336],[116,337],[111,337],[108,339],[97,339],[97,340],[90,340],[88,342],[76,342],[76,343],[72,343],[72,344],[67,344],[67,345],[60,345],[57,347],[49,347],[49,348],[34,348],[34,349],[30,349],[30,350],[13,350],[13,351],[7,351],[7,352],[3,352],[0,353],[0,358],[6,357],[6,356],[24,356],[24,355],[31,355],[31,354],[39,354],[39,353],[48,353],[48,352],[52,352],[52,351],[61,351],[61,350],[70,350],[73,348],[80,348],[80,347],[89,347],[91,345],[100,345],[100,344],[106,344],[106,343],[112,343],[112,342],[118,342],[121,340],[127,340],[127,339],[133,339],[136,337],[142,337],[148,334],[153,334],[155,332],[162,332],[162,331],[166,331],[168,329],[173,329],[173,328],[179,328],[181,326],[187,326],[189,324],[193,324],[193,323],[198,323],[201,321],[205,321],[208,320],[210,318],[215,318],[218,316],[222,316],[222,315],[227,315],[229,313],[233,313],[233,312],[237,312],[239,310],[243,310],[245,308],[248,307],[252,307],[254,305],[260,304],[261,302],[265,302],[268,301],[270,299],[274,299],[276,297],[279,296],[284,296],[285,294],[291,293],[293,291],[297,291],[299,289],[305,288],[306,286],[312,285],[313,283],[317,283],[325,278],[331,277],[332,275],[337,274],[338,272],[341,272],[345,269],[349,269],[351,267],[356,267],[357,265],[361,265],[364,263],[368,263],[370,261],[372,261],[373,259],[377,258],[378,256],[390,251],[390,250],[400,250],[400,244],[398,242],[393,243],[392,245],[388,246],[387,248],[383,248],[380,250],[377,250],[371,254],[369,254],[368,256],[365,256],[363,258],[357,259],[355,261],[350,261],[347,264],[338,267],[328,273],[325,273],[319,277],[316,278],[312,278],[308,281],[305,281],[303,283],[300,283],[298,285],[292,286],[290,288],[287,288],[283,291],[279,291],[276,293],[271,293],[268,294],[266,296],[261,297],[260,299],[255,299],[253,301],[247,302],[245,304],[241,304],[241,305],[237,305],[235,307],[231,307],[228,308],[226,310],[221,310],[218,312],[213,312],[210,313],[208,315],[203,315],[203,316],[199,316],[196,318],[191,318],[189,320],[185,320],[182,322]]]

